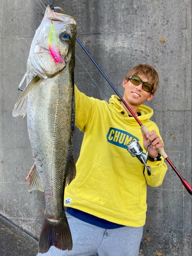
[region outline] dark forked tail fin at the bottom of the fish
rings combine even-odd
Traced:
[[[63,221],[49,219],[45,216],[39,237],[38,250],[45,253],[51,246],[60,250],[72,250],[73,241],[67,217]]]

